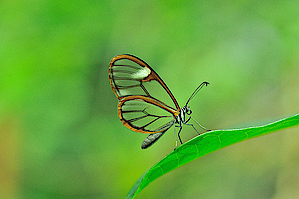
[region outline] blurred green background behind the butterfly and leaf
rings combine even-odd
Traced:
[[[1,1],[0,198],[124,198],[174,148],[125,128],[108,81],[144,59],[210,129],[299,112],[299,2]],[[206,155],[137,198],[297,198],[299,128]],[[196,134],[185,127],[186,141]]]

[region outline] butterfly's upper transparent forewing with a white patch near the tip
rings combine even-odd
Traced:
[[[119,100],[127,96],[142,95],[166,107],[178,111],[180,109],[171,91],[158,74],[135,56],[118,55],[112,58],[109,65],[109,81]]]

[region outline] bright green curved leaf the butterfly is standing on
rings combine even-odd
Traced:
[[[184,143],[145,172],[133,185],[126,198],[134,198],[149,183],[188,162],[226,146],[299,124],[299,114],[257,127],[215,130]]]

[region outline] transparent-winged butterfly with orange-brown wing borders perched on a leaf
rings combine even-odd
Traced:
[[[112,58],[109,64],[109,81],[118,98],[118,116],[123,125],[135,132],[149,134],[142,142],[142,149],[154,144],[173,125],[179,128],[178,134],[176,128],[174,131],[181,144],[183,142],[180,132],[183,124],[192,126],[200,134],[193,124],[188,123],[190,119],[209,131],[191,116],[192,111],[188,106],[189,101],[203,86],[207,86],[208,82],[201,83],[186,105],[180,108],[159,75],[146,62],[129,54]]]

